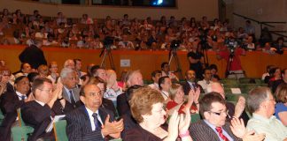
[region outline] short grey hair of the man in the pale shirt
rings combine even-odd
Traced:
[[[256,87],[248,93],[247,107],[251,113],[258,111],[260,109],[260,104],[265,100],[268,100],[268,93],[271,93],[271,91],[266,86]]]

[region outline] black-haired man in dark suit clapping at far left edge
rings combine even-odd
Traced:
[[[0,126],[0,140],[11,140],[11,127],[16,121],[17,109],[21,108],[25,102],[33,100],[32,94],[27,96],[30,86],[26,76],[16,78],[14,85],[15,91],[4,93],[0,102],[4,113],[4,121]]]

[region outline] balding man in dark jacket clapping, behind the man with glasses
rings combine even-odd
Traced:
[[[225,99],[224,89],[222,85],[218,82],[213,82],[212,84],[207,85],[206,91],[207,93],[211,93],[211,92],[220,93],[222,98]],[[227,120],[229,122],[235,116],[237,118],[242,118],[244,120],[245,125],[247,124],[249,117],[246,114],[246,112],[244,112],[244,108],[245,108],[244,97],[242,96],[239,97],[236,106],[231,102],[226,102],[226,108],[228,108],[229,110],[227,113]]]

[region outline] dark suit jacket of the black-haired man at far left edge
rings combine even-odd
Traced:
[[[0,126],[0,140],[9,140],[11,127],[17,118],[17,109],[24,105],[24,100],[19,100],[15,92],[6,92],[2,95],[1,110],[4,113],[4,121]]]

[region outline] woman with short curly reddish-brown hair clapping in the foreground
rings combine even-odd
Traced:
[[[166,122],[167,114],[163,108],[164,99],[159,91],[150,87],[136,90],[129,100],[132,116],[137,122],[135,128],[127,130],[125,141],[175,141],[179,136],[182,141],[192,140],[188,131],[190,126],[190,112],[183,119],[177,112],[169,120],[168,130],[162,125]],[[190,110],[189,108],[187,108]],[[187,111],[188,111],[187,110]]]

